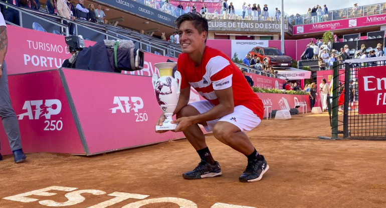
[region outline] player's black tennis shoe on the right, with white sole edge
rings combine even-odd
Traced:
[[[264,156],[261,155],[261,157],[261,160],[248,161],[247,168],[245,168],[245,171],[239,177],[240,182],[254,182],[263,177],[263,174],[269,169],[269,166]]]

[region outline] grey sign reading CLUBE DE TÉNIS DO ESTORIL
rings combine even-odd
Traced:
[[[277,21],[244,21],[236,19],[212,19],[208,22],[212,31],[248,31],[248,32],[280,32],[281,23]],[[284,24],[288,31],[288,23]]]

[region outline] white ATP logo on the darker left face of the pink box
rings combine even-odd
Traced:
[[[62,110],[62,102],[59,99],[46,100],[27,100],[24,102],[23,109],[27,112],[18,114],[18,119],[22,120],[24,116],[28,119],[51,119],[51,115],[57,115]]]

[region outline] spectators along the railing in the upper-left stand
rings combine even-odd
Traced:
[[[6,3],[12,3],[17,7],[25,7],[29,9],[39,10],[39,0],[2,0]],[[90,3],[88,8],[83,5],[84,0],[78,0],[78,3],[74,5],[72,0],[47,0],[46,10],[50,14],[59,15],[66,19],[81,19],[85,21],[91,21],[95,23],[105,23],[106,15],[102,9],[102,5],[98,4],[98,8],[95,9],[94,4]],[[20,25],[19,12],[8,6],[1,6],[1,11],[4,18],[14,24]],[[69,33],[73,34],[74,24],[71,22],[65,22],[69,25]]]

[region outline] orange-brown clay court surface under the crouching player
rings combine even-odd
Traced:
[[[33,153],[21,164],[8,155],[0,162],[0,207],[386,207],[385,141],[318,139],[331,135],[326,112],[263,120],[248,135],[270,166],[252,183],[238,180],[246,157],[211,134],[208,146],[223,175],[199,180],[181,177],[199,162],[186,139],[90,157]],[[73,188],[24,194],[31,202],[4,199],[49,186]],[[74,188],[96,190],[82,193],[84,200],[65,196]],[[114,202],[119,194],[107,194],[116,191],[141,195]]]

